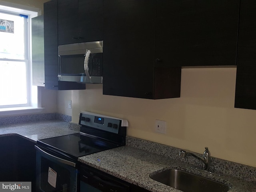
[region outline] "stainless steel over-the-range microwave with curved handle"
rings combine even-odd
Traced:
[[[103,41],[58,46],[58,80],[102,83]]]

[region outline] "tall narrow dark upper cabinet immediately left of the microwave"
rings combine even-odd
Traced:
[[[58,81],[58,2],[44,3],[44,77],[45,88],[52,90],[85,89],[85,84]]]

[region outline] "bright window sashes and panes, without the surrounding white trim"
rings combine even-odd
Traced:
[[[0,106],[28,106],[28,19],[0,12]]]

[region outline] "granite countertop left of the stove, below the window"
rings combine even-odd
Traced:
[[[0,126],[0,136],[19,134],[36,142],[39,139],[78,133],[68,129],[68,122],[61,120],[44,120],[40,122],[26,122]]]

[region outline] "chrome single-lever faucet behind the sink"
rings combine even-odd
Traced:
[[[199,159],[202,162],[203,166],[204,166],[204,170],[209,171],[210,151],[208,150],[208,147],[205,147],[205,151],[204,151],[202,157],[198,156],[197,154],[195,154],[192,151],[180,150],[180,156],[186,157],[187,155],[194,156],[195,158]]]

